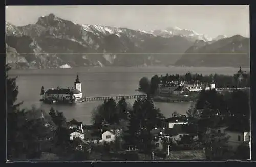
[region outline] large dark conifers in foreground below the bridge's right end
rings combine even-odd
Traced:
[[[159,126],[163,118],[160,110],[154,107],[150,95],[145,99],[137,99],[130,112],[130,124],[124,136],[126,144],[137,145],[145,152],[150,151],[153,148],[150,131]]]

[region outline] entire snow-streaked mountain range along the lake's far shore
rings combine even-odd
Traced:
[[[228,55],[227,55],[228,53]],[[6,63],[16,69],[77,66],[249,66],[249,38],[193,30],[79,25],[54,14],[6,22]]]

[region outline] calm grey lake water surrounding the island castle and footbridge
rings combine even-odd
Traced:
[[[243,69],[249,71],[248,69]],[[53,106],[55,109],[63,112],[67,121],[76,119],[84,124],[91,124],[91,113],[95,107],[102,104],[103,101],[89,101],[77,103],[74,106],[43,104],[39,101],[41,86],[45,90],[51,87],[71,87],[74,85],[76,75],[79,75],[82,83],[83,96],[105,96],[121,94],[139,94],[135,91],[138,88],[139,80],[142,77],[149,79],[157,75],[202,73],[233,75],[238,71],[232,67],[79,67],[73,69],[32,69],[32,70],[11,70],[10,77],[18,76],[17,85],[19,94],[17,101],[24,101],[22,108],[31,108],[32,105],[41,107],[48,112]],[[127,100],[131,105],[134,99]],[[172,116],[174,111],[185,114],[191,103],[160,103],[155,102],[155,106],[160,108],[165,117]]]

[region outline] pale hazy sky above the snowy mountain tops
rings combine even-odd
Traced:
[[[6,21],[18,26],[33,24],[50,13],[78,24],[142,30],[177,26],[210,37],[249,37],[249,6],[8,6]]]

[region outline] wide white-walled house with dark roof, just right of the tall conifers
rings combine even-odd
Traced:
[[[170,117],[163,120],[163,126],[166,129],[173,128],[176,124],[188,124],[188,118],[181,116],[181,117]]]

